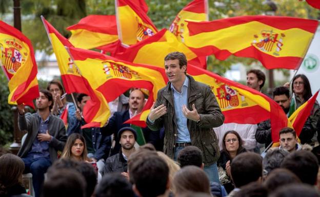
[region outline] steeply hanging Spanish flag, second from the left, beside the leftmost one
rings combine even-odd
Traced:
[[[67,38],[63,37],[54,27],[42,17],[42,21],[47,30],[49,40],[51,42],[53,52],[56,56],[59,70],[61,72],[61,79],[65,90],[68,94],[71,93],[88,93],[86,85],[84,84],[81,73],[75,67],[69,53],[65,47],[73,47]]]

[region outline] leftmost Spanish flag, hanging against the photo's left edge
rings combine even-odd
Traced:
[[[9,104],[29,105],[39,97],[37,65],[31,41],[0,20],[0,65],[9,82]]]

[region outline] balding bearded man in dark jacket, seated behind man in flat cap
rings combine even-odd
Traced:
[[[152,131],[148,127],[141,128],[132,124],[124,124],[124,122],[130,118],[142,112],[145,102],[144,93],[141,90],[133,90],[129,96],[129,110],[124,112],[115,112],[109,119],[108,124],[101,128],[101,133],[103,135],[110,136],[114,134],[114,141],[116,144],[111,150],[111,156],[117,154],[121,147],[120,144],[117,143],[119,141],[117,136],[118,130],[127,126],[136,130],[136,142],[139,145],[151,143],[157,150],[163,149],[163,142],[160,138],[159,131]]]

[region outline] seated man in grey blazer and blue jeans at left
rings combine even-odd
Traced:
[[[67,140],[66,127],[60,118],[50,114],[53,99],[47,90],[41,90],[36,98],[37,112],[25,113],[25,106],[19,104],[18,124],[28,135],[18,152],[25,163],[25,173],[32,173],[35,196],[40,196],[44,174],[57,159],[57,151],[63,151]]]

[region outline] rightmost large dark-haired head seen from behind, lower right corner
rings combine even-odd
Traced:
[[[281,164],[303,182],[315,185],[318,173],[318,160],[310,151],[300,150],[289,154]]]

